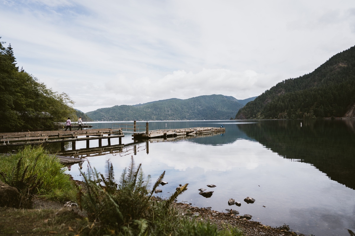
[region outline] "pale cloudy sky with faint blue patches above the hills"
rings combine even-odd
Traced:
[[[1,0],[17,65],[83,112],[258,96],[355,45],[354,0]]]

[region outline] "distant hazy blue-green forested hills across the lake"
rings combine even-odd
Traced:
[[[137,105],[116,105],[85,114],[97,121],[229,120],[248,99],[237,100],[231,96],[213,94]]]

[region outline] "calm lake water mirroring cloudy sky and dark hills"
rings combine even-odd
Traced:
[[[120,122],[91,124],[111,128],[112,123]],[[142,163],[144,174],[151,175],[152,184],[165,171],[168,184],[158,187],[163,192],[157,196],[169,197],[179,184],[188,183],[178,202],[192,206],[220,212],[235,209],[262,224],[286,224],[306,235],[348,236],[346,229],[355,231],[354,120],[157,121],[149,122],[149,129],[219,127],[222,123],[223,135],[151,140],[127,145],[122,153],[88,157],[88,161],[104,173],[110,160],[119,180],[133,156],[136,165]],[[111,145],[118,143],[118,138],[111,139]],[[129,143],[133,143],[131,134],[125,134],[122,144]],[[91,140],[90,147],[95,145],[98,140]],[[106,139],[102,145],[107,145]],[[77,142],[76,148],[86,148],[86,141]],[[67,173],[82,180],[77,164]],[[208,184],[216,187],[208,188]],[[200,188],[214,191],[213,195],[199,195]],[[247,204],[246,197],[255,203]],[[229,198],[241,206],[229,206]]]

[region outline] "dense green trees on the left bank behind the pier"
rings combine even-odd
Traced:
[[[53,122],[75,117],[70,97],[19,70],[11,44],[4,44],[0,42],[0,133],[51,129]]]

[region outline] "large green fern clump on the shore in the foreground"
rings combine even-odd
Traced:
[[[154,220],[156,212],[155,200],[152,196],[162,182],[165,171],[149,190],[150,176],[144,177],[141,164],[136,166],[131,157],[131,164],[121,174],[118,184],[114,179],[112,163],[108,160],[105,175],[97,172],[88,164],[88,172],[83,173],[86,192],[78,189],[79,206],[88,212],[88,224],[85,230],[93,234],[142,235]],[[186,190],[187,184],[184,186]],[[184,188],[176,191],[163,207],[168,208]],[[155,214],[155,215],[154,215]],[[91,229],[90,229],[91,228]]]

